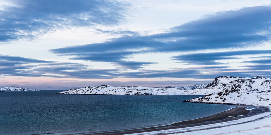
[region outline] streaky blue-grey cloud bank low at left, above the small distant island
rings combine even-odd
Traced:
[[[24,57],[0,55],[0,76],[61,77],[67,75],[69,77],[73,77],[74,75],[71,71],[77,74],[78,78],[80,78],[80,76],[82,77],[83,74],[91,74],[92,76],[96,75],[96,78],[101,78],[100,75],[103,75],[99,74],[102,71],[98,70],[92,70],[92,72],[89,72],[90,70],[86,65],[79,63],[44,61]],[[82,71],[88,71],[88,73],[85,72],[79,74]]]

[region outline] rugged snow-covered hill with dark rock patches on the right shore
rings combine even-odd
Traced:
[[[187,100],[200,103],[271,105],[271,78],[216,77],[203,91],[217,91],[204,97]]]

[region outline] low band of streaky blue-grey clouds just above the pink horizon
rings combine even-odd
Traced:
[[[0,55],[0,76],[55,77],[82,79],[112,78],[215,78],[217,76],[265,76],[270,77],[270,64],[247,65],[243,69],[232,69],[228,66],[199,66],[192,68],[176,68],[172,70],[129,71],[125,68],[91,69],[87,65],[73,62],[54,62]],[[124,61],[121,61],[124,62]],[[5,64],[4,64],[5,63]],[[149,62],[126,61],[121,66],[131,69],[141,68]]]

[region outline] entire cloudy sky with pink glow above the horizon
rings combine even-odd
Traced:
[[[270,0],[0,0],[0,87],[271,77]]]

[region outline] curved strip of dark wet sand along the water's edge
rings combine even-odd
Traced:
[[[220,123],[230,120],[237,120],[244,117],[253,116],[259,113],[269,111],[267,107],[259,107],[253,110],[245,110],[245,107],[235,107],[230,110],[217,113],[211,116],[202,117],[194,120],[182,121],[166,126],[157,126],[157,127],[149,127],[149,128],[141,128],[141,129],[131,129],[131,130],[121,130],[121,131],[111,131],[111,132],[103,132],[103,133],[88,133],[83,135],[121,135],[121,134],[132,134],[132,133],[143,133],[150,131],[160,131],[160,130],[168,130],[168,129],[178,129],[184,127],[194,127],[201,126],[207,124]],[[204,111],[204,110],[203,110]]]

